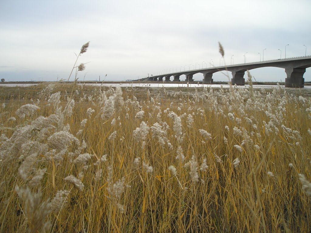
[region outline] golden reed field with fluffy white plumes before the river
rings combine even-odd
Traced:
[[[310,232],[311,98],[1,87],[0,232]]]

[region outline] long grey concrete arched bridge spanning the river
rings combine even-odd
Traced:
[[[193,75],[197,73],[203,74],[204,84],[213,84],[213,74],[218,71],[230,71],[232,73],[231,83],[236,85],[245,85],[244,74],[247,70],[252,70],[261,67],[279,67],[284,68],[287,78],[285,78],[285,87],[304,87],[304,73],[306,68],[311,67],[311,56],[291,57],[263,62],[249,62],[235,64],[230,66],[218,66],[205,69],[181,71],[154,75],[146,78],[149,81],[170,81],[170,77],[174,77],[174,82],[179,82],[180,75],[186,75],[186,81],[193,82]]]

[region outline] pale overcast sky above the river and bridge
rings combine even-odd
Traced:
[[[310,10],[309,0],[0,0],[0,79],[67,80],[88,41],[78,80],[135,80],[244,63],[244,55],[246,62],[285,58],[287,44],[286,57],[311,55]],[[257,81],[286,78],[275,67],[251,74]],[[228,80],[220,72],[213,79]],[[304,79],[311,81],[311,68]]]

